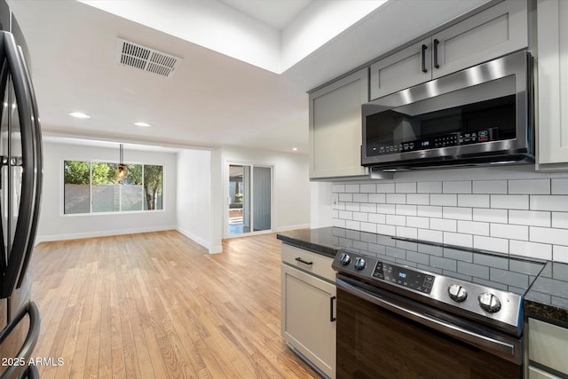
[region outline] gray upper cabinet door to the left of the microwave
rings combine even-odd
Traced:
[[[310,94],[310,178],[367,173],[361,167],[361,104],[367,101],[367,68]]]

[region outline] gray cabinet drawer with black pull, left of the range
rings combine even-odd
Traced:
[[[335,271],[331,268],[333,258],[283,243],[282,262],[335,282]]]

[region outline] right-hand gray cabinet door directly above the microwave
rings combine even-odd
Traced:
[[[526,1],[505,1],[432,36],[432,75],[448,75],[527,46]]]

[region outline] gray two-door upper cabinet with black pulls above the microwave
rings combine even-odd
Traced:
[[[373,64],[371,99],[526,47],[526,1],[496,4]]]

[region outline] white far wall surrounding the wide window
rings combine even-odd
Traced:
[[[124,162],[164,166],[163,210],[122,214],[63,214],[63,161],[102,160],[117,162],[115,149],[75,146],[43,141],[43,194],[36,241],[58,241],[176,228],[176,154],[124,151]]]

